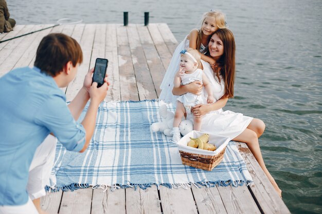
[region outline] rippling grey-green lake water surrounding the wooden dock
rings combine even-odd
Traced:
[[[178,41],[220,9],[237,42],[235,99],[225,109],[262,119],[267,168],[292,213],[322,213],[322,1],[7,0],[17,24],[167,23]]]

